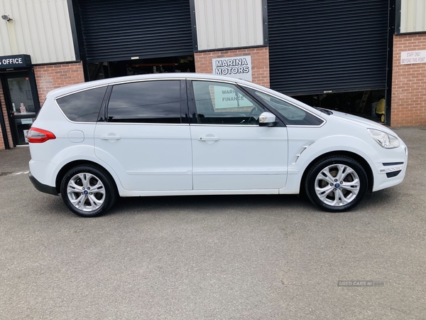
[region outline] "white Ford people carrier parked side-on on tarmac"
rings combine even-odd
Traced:
[[[118,196],[307,193],[353,208],[405,176],[382,124],[215,75],[137,75],[53,90],[28,132],[35,188],[77,215]]]

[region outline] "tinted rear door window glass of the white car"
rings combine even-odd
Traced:
[[[114,85],[108,122],[180,123],[180,80]]]

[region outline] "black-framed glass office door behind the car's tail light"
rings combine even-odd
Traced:
[[[33,124],[38,111],[38,105],[36,106],[34,103],[28,72],[4,75],[2,83],[13,145],[28,144],[26,133]]]

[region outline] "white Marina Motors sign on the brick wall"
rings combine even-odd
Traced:
[[[251,56],[212,59],[213,74],[251,81]]]

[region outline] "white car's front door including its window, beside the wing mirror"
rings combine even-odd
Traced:
[[[231,82],[188,83],[194,190],[271,190],[284,188],[288,166],[285,125],[260,127],[265,111]],[[272,191],[273,190],[273,191]]]

